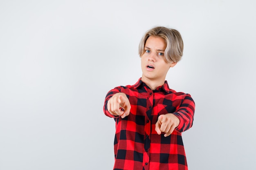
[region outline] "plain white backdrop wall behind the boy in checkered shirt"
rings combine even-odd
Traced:
[[[111,170],[106,93],[141,77],[153,26],[180,31],[170,88],[196,103],[189,170],[256,169],[254,0],[1,0],[0,170]]]

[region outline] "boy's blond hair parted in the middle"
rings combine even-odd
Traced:
[[[144,46],[149,36],[161,37],[166,41],[164,57],[167,62],[179,62],[183,55],[183,41],[179,31],[164,26],[156,26],[148,30],[139,43],[139,56],[144,53]]]

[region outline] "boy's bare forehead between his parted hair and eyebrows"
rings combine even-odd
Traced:
[[[162,37],[149,36],[148,39],[146,40],[145,47],[150,49],[153,48],[153,49],[165,50],[166,42]]]

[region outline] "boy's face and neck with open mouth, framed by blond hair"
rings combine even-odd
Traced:
[[[141,80],[144,82],[164,82],[170,67],[175,66],[175,62],[166,62],[164,51],[166,42],[163,38],[150,36],[144,46],[144,53],[141,55]]]

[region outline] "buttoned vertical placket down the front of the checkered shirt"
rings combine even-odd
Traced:
[[[145,116],[145,133],[144,133],[144,154],[143,154],[143,166],[145,170],[149,169],[149,157],[150,157],[150,133],[151,133],[151,121],[150,117],[153,110],[153,91],[146,89],[147,91],[147,104],[146,104],[146,115]]]

